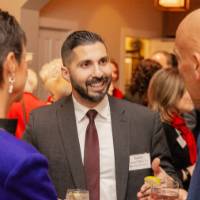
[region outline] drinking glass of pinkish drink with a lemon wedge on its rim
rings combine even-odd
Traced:
[[[177,200],[178,197],[179,184],[171,178],[165,178],[161,184],[151,187],[151,200]]]

